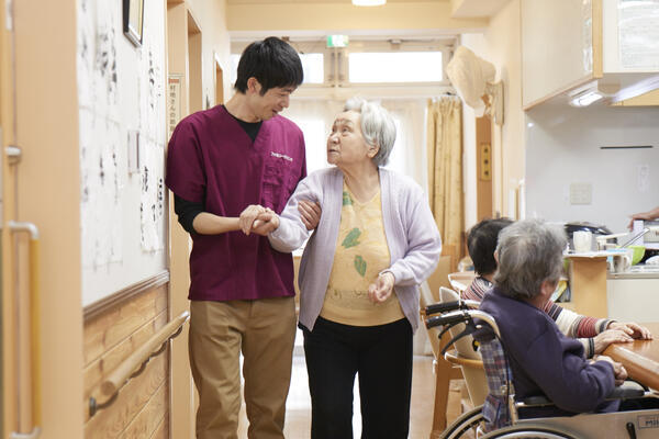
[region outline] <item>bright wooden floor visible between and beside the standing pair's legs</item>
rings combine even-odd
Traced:
[[[449,395],[449,421],[460,413],[461,381],[451,382]],[[414,357],[412,375],[412,408],[410,416],[410,439],[428,439],[433,424],[433,402],[435,398],[435,376],[433,375],[432,357]],[[355,438],[361,435],[361,417],[359,414],[359,392],[355,389],[355,417],[353,419]],[[311,430],[311,398],[304,357],[297,349],[293,358],[291,389],[287,402],[284,434],[289,439],[310,437]],[[247,438],[247,418],[243,404],[238,437]]]

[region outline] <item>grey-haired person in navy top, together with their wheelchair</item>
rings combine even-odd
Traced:
[[[543,311],[561,274],[565,246],[565,234],[540,221],[504,228],[494,289],[480,308],[426,322],[461,320],[473,329],[490,392],[482,410],[462,415],[443,438],[460,437],[481,421],[489,431],[483,438],[659,437],[656,393],[640,386],[614,392],[627,378],[623,365],[604,356],[587,360],[583,345]]]

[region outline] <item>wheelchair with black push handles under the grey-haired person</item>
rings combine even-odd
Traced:
[[[442,335],[456,325],[465,325],[443,348],[443,353],[458,339],[489,326],[494,338],[474,342],[481,353],[488,378],[488,399],[485,404],[463,413],[439,436],[440,439],[461,437],[491,438],[541,438],[541,439],[657,439],[659,438],[659,408],[637,409],[614,413],[587,413],[573,416],[520,418],[518,413],[526,407],[552,405],[545,397],[530,397],[515,401],[513,376],[501,335],[494,318],[479,309],[473,309],[470,301],[438,303],[426,307],[425,324],[428,328],[442,327]],[[478,345],[478,346],[477,346]],[[607,399],[659,398],[659,394],[638,383],[628,381],[616,387]],[[496,406],[496,401],[503,404]],[[476,434],[476,436],[472,436]]]

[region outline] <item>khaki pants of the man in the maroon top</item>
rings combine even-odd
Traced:
[[[294,338],[293,297],[191,302],[190,367],[200,399],[199,439],[237,439],[241,351],[247,435],[283,438]]]

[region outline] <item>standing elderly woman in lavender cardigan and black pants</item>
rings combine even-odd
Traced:
[[[292,251],[311,235],[310,211],[322,209],[299,275],[313,439],[353,437],[356,373],[361,437],[407,437],[417,285],[442,243],[421,188],[381,167],[394,139],[387,110],[348,101],[327,139],[335,167],[302,180],[280,217],[258,217],[272,225],[272,247]]]

